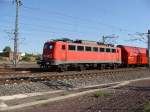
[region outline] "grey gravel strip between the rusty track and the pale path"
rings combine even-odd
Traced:
[[[149,72],[137,71],[137,72],[126,72],[110,75],[101,75],[94,78],[82,78],[74,80],[53,80],[46,82],[32,82],[12,85],[0,85],[0,96],[13,95],[21,93],[33,93],[33,92],[45,92],[49,90],[58,89],[70,89],[74,87],[85,87],[97,84],[111,83],[116,81],[131,80],[137,78],[149,77]]]

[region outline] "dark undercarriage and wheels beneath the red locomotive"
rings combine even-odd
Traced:
[[[90,69],[116,69],[121,66],[120,63],[62,63],[56,65],[54,62],[51,61],[44,61],[42,60],[40,63],[40,67],[42,69],[54,70],[54,71],[68,71],[68,70],[90,70]]]

